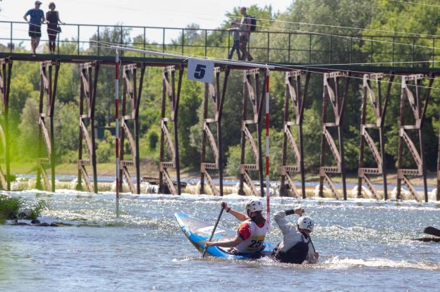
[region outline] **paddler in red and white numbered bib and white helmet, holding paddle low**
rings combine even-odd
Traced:
[[[238,220],[243,221],[238,227],[237,235],[229,241],[207,241],[206,245],[231,248],[233,253],[256,253],[264,249],[264,238],[269,229],[266,218],[262,215],[263,203],[256,198],[251,198],[245,204],[247,215],[228,207],[223,202],[221,206]]]

